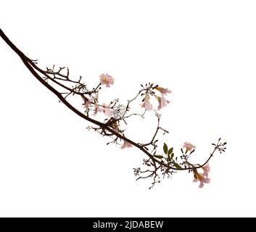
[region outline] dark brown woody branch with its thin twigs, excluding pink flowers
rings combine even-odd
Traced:
[[[153,84],[149,83],[149,86],[146,85],[146,88],[143,87],[143,89],[141,91],[139,91],[139,93],[131,100],[128,101],[128,104],[126,105],[126,107],[124,108],[124,112],[123,115],[121,115],[121,117],[119,118],[110,118],[110,120],[107,121],[107,123],[102,123],[98,120],[94,120],[93,118],[88,116],[88,112],[87,115],[83,114],[83,112],[80,112],[78,109],[76,109],[75,107],[73,107],[72,104],[70,104],[67,101],[67,96],[69,96],[70,94],[75,94],[75,95],[79,95],[82,96],[83,100],[88,101],[90,104],[94,104],[96,106],[102,106],[100,104],[97,104],[96,101],[92,102],[89,101],[86,96],[84,96],[85,94],[88,94],[89,96],[91,96],[91,94],[97,94],[99,89],[101,88],[101,84],[99,84],[98,86],[96,86],[96,88],[93,88],[92,91],[88,91],[86,88],[86,85],[84,83],[81,83],[81,77],[79,78],[79,80],[72,80],[69,77],[69,70],[67,68],[67,74],[64,75],[62,74],[62,70],[64,69],[64,67],[59,67],[59,70],[54,71],[54,67],[52,69],[48,69],[47,70],[41,70],[41,68],[39,68],[36,64],[37,62],[35,60],[29,59],[28,57],[25,56],[25,54],[22,53],[22,51],[20,51],[20,49],[17,48],[17,46],[15,46],[14,43],[12,43],[12,41],[9,40],[9,38],[7,38],[7,36],[4,34],[4,32],[0,29],[0,36],[1,38],[7,43],[7,45],[13,50],[15,51],[15,53],[20,57],[20,59],[22,60],[22,62],[24,63],[25,67],[28,68],[28,70],[31,72],[31,74],[40,82],[42,83],[46,88],[49,89],[49,91],[51,91],[53,94],[55,94],[59,101],[62,101],[63,104],[65,104],[65,106],[67,108],[69,108],[70,110],[72,110],[76,115],[82,117],[84,120],[87,120],[90,123],[93,123],[94,125],[99,126],[99,128],[94,128],[94,130],[98,131],[102,130],[102,133],[104,134],[104,136],[116,136],[116,138],[113,138],[113,141],[116,142],[117,138],[119,138],[120,140],[126,141],[128,142],[128,144],[132,144],[133,146],[135,146],[137,149],[141,150],[141,152],[143,152],[144,154],[146,154],[147,157],[149,157],[149,159],[147,160],[147,166],[152,166],[154,167],[154,170],[146,170],[146,171],[141,171],[136,169],[136,171],[138,171],[138,173],[149,173],[149,175],[146,176],[140,176],[138,179],[140,178],[149,178],[154,176],[154,182],[152,183],[152,185],[154,186],[154,183],[157,183],[159,181],[156,181],[156,178],[159,178],[159,175],[157,174],[157,170],[162,170],[162,172],[164,172],[165,174],[172,174],[172,172],[170,172],[170,170],[196,170],[200,167],[203,167],[207,164],[207,162],[209,162],[209,160],[212,158],[213,154],[215,153],[216,150],[218,150],[219,152],[225,152],[224,146],[226,145],[226,143],[221,144],[220,140],[218,141],[218,144],[215,145],[215,149],[213,150],[213,152],[210,154],[210,157],[206,160],[206,162],[203,165],[191,165],[191,167],[177,167],[176,162],[174,161],[170,161],[168,160],[168,158],[166,158],[166,162],[165,159],[159,159],[157,157],[154,157],[154,154],[151,154],[150,152],[148,152],[148,148],[146,146],[152,145],[154,147],[153,151],[156,150],[157,145],[155,144],[157,141],[154,141],[157,133],[159,132],[159,130],[163,130],[164,133],[168,133],[167,130],[164,130],[163,128],[160,127],[160,117],[158,117],[158,123],[157,123],[157,130],[154,133],[154,136],[152,137],[152,140],[148,143],[148,144],[139,144],[136,143],[135,141],[132,141],[129,138],[126,138],[122,133],[120,133],[121,130],[115,130],[115,128],[113,127],[114,123],[118,123],[120,120],[124,120],[124,118],[127,117],[131,117],[133,115],[139,115],[139,114],[131,114],[125,117],[126,112],[129,109],[129,105],[131,104],[132,101],[134,101],[135,99],[137,99],[137,97],[143,92],[146,91],[146,94],[152,94],[154,95],[154,92],[152,90],[154,90],[154,88],[157,88],[157,86],[153,86]],[[38,74],[41,73],[42,75],[44,75],[44,77],[41,77],[41,75]],[[45,78],[45,79],[44,79]],[[57,91],[56,88],[54,88],[53,86],[51,86],[46,80],[51,80],[53,83],[57,84],[57,86],[60,86],[62,88],[65,88],[67,91],[69,91],[68,93],[63,93],[60,91]],[[68,82],[68,83],[75,83],[77,86],[75,86],[74,88],[70,88],[68,86],[65,86],[64,84],[60,83],[60,81],[64,81],[64,82]],[[86,90],[86,91],[85,91]],[[63,94],[67,94],[66,96],[62,96]],[[143,94],[141,94],[142,96]],[[109,107],[109,108],[113,108]],[[107,107],[106,107],[107,108]],[[146,112],[146,110],[145,110]],[[144,117],[144,114],[140,115],[141,117]],[[108,132],[108,133],[107,133]],[[137,173],[137,174],[138,174]]]

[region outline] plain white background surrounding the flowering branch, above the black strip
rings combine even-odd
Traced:
[[[255,12],[234,0],[1,1],[1,29],[39,66],[67,65],[91,86],[109,72],[105,91],[122,99],[159,83],[173,91],[162,125],[177,154],[191,141],[202,162],[219,136],[228,149],[204,188],[176,173],[148,190],[133,176],[143,154],[88,132],[0,41],[0,216],[256,216]],[[154,122],[135,121],[136,138]]]

